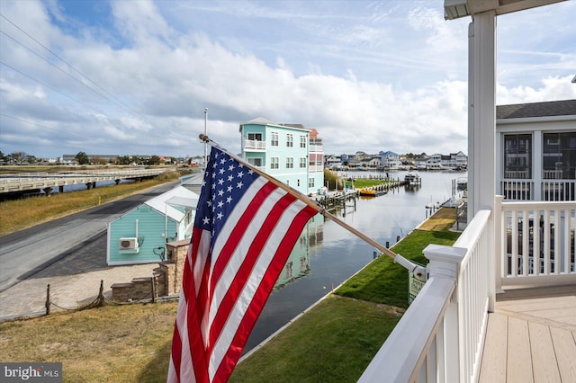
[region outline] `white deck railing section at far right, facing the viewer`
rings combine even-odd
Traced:
[[[576,204],[501,204],[500,285],[553,284],[576,278]],[[500,287],[500,286],[498,286]]]

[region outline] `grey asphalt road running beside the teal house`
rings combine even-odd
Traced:
[[[0,236],[0,292],[103,236],[109,222],[176,184],[178,182],[166,183],[122,200]]]

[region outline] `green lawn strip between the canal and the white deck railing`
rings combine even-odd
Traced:
[[[426,263],[428,244],[453,245],[458,236],[414,230],[392,251]],[[230,381],[356,381],[406,307],[408,272],[383,255],[242,361]]]

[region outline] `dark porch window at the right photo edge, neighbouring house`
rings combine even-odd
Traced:
[[[545,179],[576,179],[576,131],[545,133],[542,156]]]

